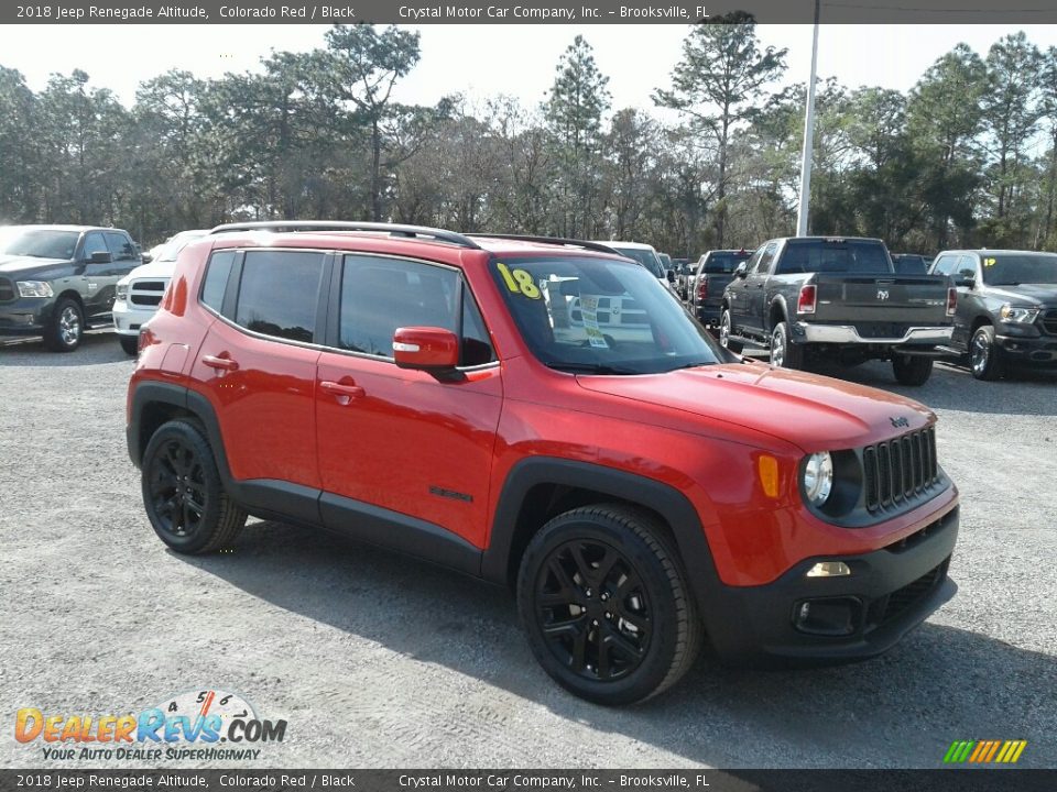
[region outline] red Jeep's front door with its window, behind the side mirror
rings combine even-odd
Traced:
[[[440,528],[483,547],[502,381],[472,295],[438,264],[370,254],[339,264],[316,374],[325,525],[379,518],[382,530]],[[462,374],[399,369],[399,327],[461,333]]]

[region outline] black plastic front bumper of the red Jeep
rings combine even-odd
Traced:
[[[767,585],[722,585],[721,602],[706,618],[712,645],[723,660],[763,667],[880,654],[954,596],[957,586],[947,578],[947,566],[957,537],[955,507],[881,550],[807,559]],[[807,578],[819,561],[843,561],[851,574]],[[805,631],[803,623],[797,626],[805,603],[847,612],[847,631]]]

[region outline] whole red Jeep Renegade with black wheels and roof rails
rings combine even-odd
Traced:
[[[174,550],[252,514],[510,584],[547,673],[603,704],[671,686],[702,640],[856,660],[946,602],[935,422],[733,355],[604,245],[375,223],[185,248],[128,395]]]

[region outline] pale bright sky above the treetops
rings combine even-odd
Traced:
[[[526,107],[544,99],[559,56],[578,34],[595,48],[610,78],[613,109],[652,109],[651,94],[669,85],[686,25],[407,25],[422,34],[422,59],[400,85],[397,101],[434,105],[459,92],[481,102],[499,94]],[[200,78],[257,70],[272,51],[322,46],[326,25],[0,25],[0,65],[17,68],[34,90],[50,74],[80,68],[91,85],[126,103],[137,86],[181,68]],[[819,77],[856,88],[908,90],[928,66],[965,42],[982,55],[1000,37],[1024,30],[1040,48],[1057,46],[1057,25],[827,25],[819,34]],[[788,48],[785,82],[805,81],[811,26],[760,25],[764,45]],[[121,46],[91,47],[92,41]]]

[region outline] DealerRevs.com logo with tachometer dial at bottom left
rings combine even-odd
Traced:
[[[261,746],[282,743],[285,721],[258,717],[238,693],[187,691],[139,713],[47,713],[23,707],[15,714],[14,738],[40,745],[50,761],[84,759],[257,760]]]

